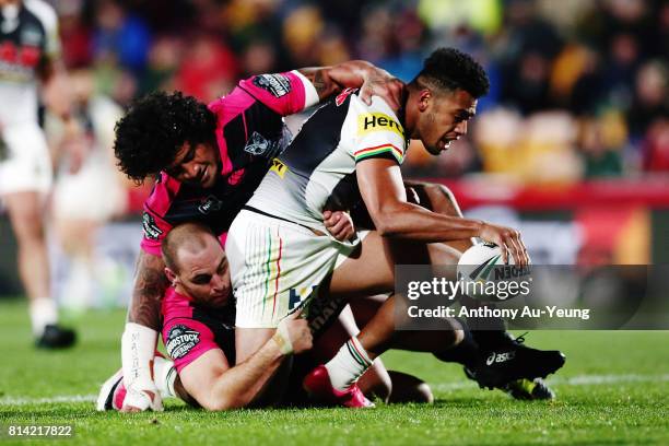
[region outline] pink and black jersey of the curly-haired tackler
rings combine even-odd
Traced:
[[[296,71],[261,74],[239,82],[231,94],[209,104],[218,117],[221,175],[203,189],[162,173],[144,202],[144,251],[160,256],[161,242],[183,222],[200,221],[216,234],[227,231],[237,212],[291,139],[283,117],[316,104],[312,83]]]

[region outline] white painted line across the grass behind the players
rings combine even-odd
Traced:
[[[602,384],[620,383],[657,383],[669,382],[669,374],[665,375],[578,375],[570,378],[555,376],[549,378],[549,384],[559,386],[596,386]],[[457,383],[432,384],[436,391],[459,390],[476,387],[476,383],[462,380]],[[96,395],[62,395],[49,398],[22,398],[3,397],[0,398],[0,406],[28,406],[28,404],[54,404],[59,402],[95,402]]]

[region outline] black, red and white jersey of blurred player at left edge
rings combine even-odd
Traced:
[[[0,8],[0,124],[37,120],[37,70],[59,54],[58,16],[48,3]]]

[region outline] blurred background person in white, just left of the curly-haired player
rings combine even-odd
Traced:
[[[122,109],[106,96],[95,94],[90,70],[71,73],[74,91],[73,116],[85,129],[87,156],[77,173],[71,173],[67,155],[61,159],[52,196],[56,234],[68,265],[60,287],[63,306],[81,310],[95,298],[104,265],[95,255],[97,231],[109,219],[126,212],[127,180],[117,172],[111,146],[114,125]],[[51,144],[61,144],[62,126],[51,115],[45,122]],[[63,259],[60,259],[63,260]]]

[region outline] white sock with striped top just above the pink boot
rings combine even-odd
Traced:
[[[355,384],[357,378],[372,366],[372,363],[373,361],[357,338],[352,337],[325,366],[330,375],[332,387],[343,391]]]

